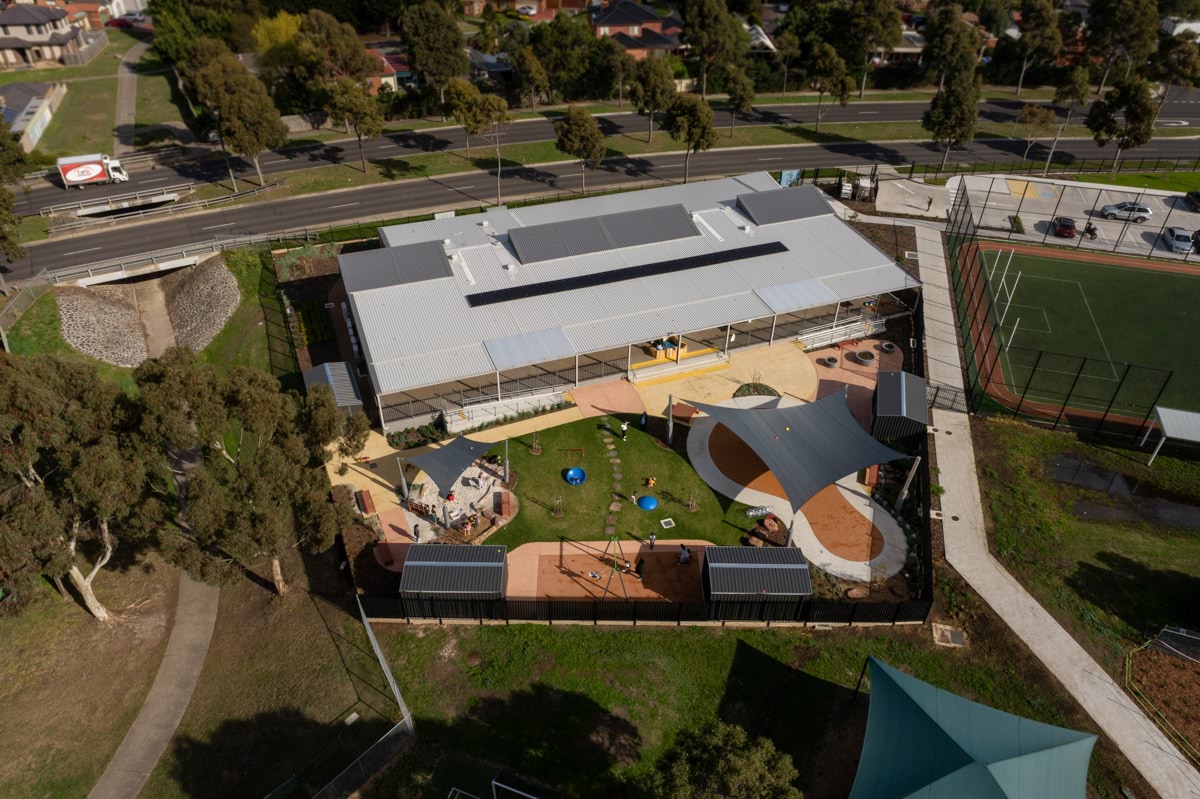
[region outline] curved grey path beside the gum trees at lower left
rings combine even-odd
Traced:
[[[204,668],[217,619],[220,590],[186,573],[179,579],[179,606],[167,653],[150,693],[89,799],[128,799],[142,792],[167,751]]]

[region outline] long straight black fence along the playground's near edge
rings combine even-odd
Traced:
[[[932,600],[904,602],[670,602],[666,600],[440,600],[364,596],[372,621],[492,621],[574,624],[923,624]]]

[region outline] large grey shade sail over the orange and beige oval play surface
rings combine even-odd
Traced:
[[[876,441],[850,413],[845,392],[803,405],[728,408],[685,401],[755,451],[799,510],[826,486],[859,469],[906,457]]]

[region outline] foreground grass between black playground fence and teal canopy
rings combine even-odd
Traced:
[[[790,753],[806,795],[845,797],[868,709],[865,696],[850,699],[871,654],[1003,710],[1091,727],[1032,659],[1013,655],[1007,631],[979,632],[970,649],[947,650],[899,629],[377,625],[418,741],[367,797],[491,795],[497,768],[548,786],[542,795],[622,795],[620,781],[680,731],[716,716]],[[1110,752],[1092,758],[1091,782],[1115,798]]]

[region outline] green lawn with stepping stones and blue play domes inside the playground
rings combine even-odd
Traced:
[[[686,455],[667,450],[658,439],[637,429],[637,417],[630,416],[629,440],[614,438],[616,457],[620,458],[622,497],[620,511],[614,527],[623,539],[644,539],[652,531],[672,539],[706,539],[721,545],[737,545],[744,531],[754,527],[748,519],[744,505],[719,497],[696,474]],[[509,444],[509,458],[518,475],[516,494],[521,500],[521,512],[509,524],[487,540],[488,543],[506,543],[509,548],[529,541],[558,541],[562,537],[576,541],[602,541],[605,539],[608,504],[613,501],[613,468],[608,462],[610,450],[604,438],[608,425],[619,427],[616,417],[584,419],[539,433],[541,455],[533,455],[533,435],[521,435]],[[680,431],[684,432],[684,431]],[[682,435],[680,435],[682,439]],[[582,449],[584,457],[578,463],[565,450]],[[500,457],[504,447],[492,450]],[[570,458],[570,459],[569,459]],[[582,465],[588,479],[582,486],[571,486],[563,479],[569,465]],[[656,487],[644,487],[646,479],[654,476]],[[658,510],[646,512],[634,507],[628,500],[629,492],[653,494],[659,499]],[[688,501],[695,497],[698,510],[688,511]],[[563,516],[553,515],[557,499],[563,500]],[[676,527],[664,530],[659,522],[674,519]]]

